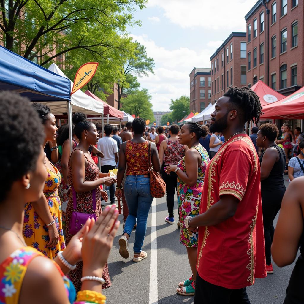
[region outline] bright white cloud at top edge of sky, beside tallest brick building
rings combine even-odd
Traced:
[[[253,0],[150,0],[147,7],[164,9],[164,16],[182,28],[245,31],[244,16],[254,3]]]

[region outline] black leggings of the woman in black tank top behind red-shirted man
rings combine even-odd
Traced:
[[[266,264],[271,264],[271,244],[275,228],[273,220],[281,208],[282,199],[286,188],[276,189],[274,191],[262,192],[262,210],[263,210],[263,224],[264,224],[264,239],[265,239],[265,256]]]

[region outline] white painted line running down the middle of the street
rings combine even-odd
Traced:
[[[157,233],[156,233],[156,199],[152,201],[151,253],[150,253],[150,288],[149,304],[158,303],[157,292]]]

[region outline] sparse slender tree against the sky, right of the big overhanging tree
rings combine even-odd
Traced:
[[[128,91],[127,88],[134,84],[134,79],[130,78],[128,75],[133,77],[148,76],[149,72],[154,74],[154,59],[147,56],[146,48],[139,42],[135,41],[135,50],[133,56],[123,63],[122,72],[117,78],[118,85],[118,108],[121,107],[121,99]]]

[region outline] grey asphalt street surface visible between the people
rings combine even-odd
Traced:
[[[286,182],[287,184],[288,182]],[[164,221],[168,216],[165,197],[156,199],[155,205],[156,212],[153,212],[155,211],[153,206],[150,209],[143,244],[143,250],[147,252],[148,257],[139,263],[132,261],[134,230],[130,237],[130,258],[124,259],[119,255],[118,239],[123,232],[122,215],[119,215],[121,224],[108,260],[112,286],[103,290],[108,304],[193,303],[193,297],[176,294],[178,282],[186,280],[191,275],[186,249],[179,243],[180,231],[176,224],[170,225]],[[154,219],[152,219],[153,214]],[[177,203],[174,214],[178,214]],[[154,223],[156,222],[156,225],[151,225],[152,220]],[[177,217],[175,217],[176,220]],[[155,232],[153,232],[154,230]],[[157,250],[155,250],[155,246],[157,246]],[[278,268],[275,264],[273,266],[274,274],[268,275],[264,279],[256,279],[255,284],[247,288],[251,304],[283,303],[294,263],[284,268]]]

